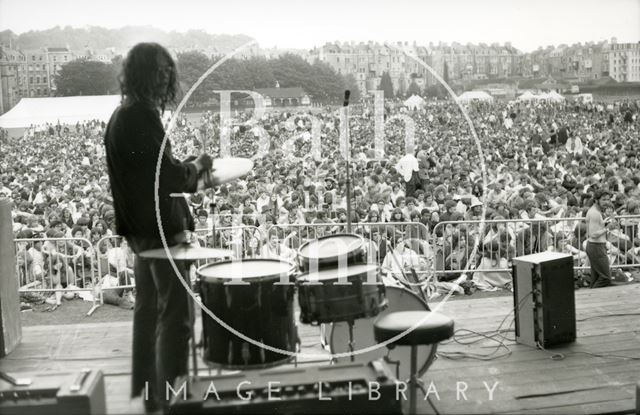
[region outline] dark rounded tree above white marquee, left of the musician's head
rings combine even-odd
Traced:
[[[55,77],[57,96],[117,94],[117,69],[111,63],[76,59]]]

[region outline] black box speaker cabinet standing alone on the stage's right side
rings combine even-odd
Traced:
[[[573,257],[541,252],[513,260],[516,342],[547,348],[576,339]]]

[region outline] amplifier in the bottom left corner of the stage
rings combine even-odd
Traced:
[[[14,379],[0,373],[0,414],[105,414],[104,378],[99,370],[37,374]]]

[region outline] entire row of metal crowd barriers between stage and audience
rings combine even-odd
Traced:
[[[505,219],[438,223],[430,233],[418,222],[353,223],[352,232],[365,238],[367,260],[386,273],[414,269],[419,280],[432,275],[454,279],[471,272],[510,272],[516,256],[544,251],[573,255],[575,268],[589,269],[585,218]],[[640,271],[640,215],[616,216],[607,221],[607,251],[613,269]],[[197,230],[200,246],[230,250],[236,259],[281,257],[296,260],[303,244],[329,235],[347,233],[346,223],[263,226],[224,226]],[[399,243],[402,242],[402,243]],[[90,298],[91,314],[104,302],[133,304],[134,255],[120,236],[100,239],[95,246],[85,238],[15,239],[16,276],[25,296],[79,295]],[[470,258],[473,248],[476,255]],[[389,255],[393,250],[394,255]],[[199,261],[202,266],[219,259]],[[468,264],[468,262],[470,262]],[[192,273],[192,279],[195,272]]]

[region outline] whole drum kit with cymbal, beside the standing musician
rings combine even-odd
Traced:
[[[238,174],[227,176],[236,178]],[[428,306],[407,287],[385,285],[378,264],[367,261],[367,246],[357,234],[324,236],[303,244],[297,252],[297,263],[271,258],[228,260],[233,258],[232,251],[190,244],[146,251],[141,256],[218,261],[196,271],[203,305],[202,341],[198,346],[211,368],[256,370],[292,362],[301,347],[295,297],[302,324],[321,326],[323,332],[330,327],[330,341],[324,334],[322,340],[328,343],[332,356],[349,356],[359,362],[380,357],[408,362],[408,347],[373,347],[374,321],[389,312],[426,311]],[[198,346],[192,327],[194,378],[198,373]],[[368,351],[354,353],[364,348]],[[429,348],[425,349],[419,351],[425,363],[423,371],[429,355]],[[344,357],[332,358],[331,362],[340,359]],[[408,372],[400,376],[407,379]]]

